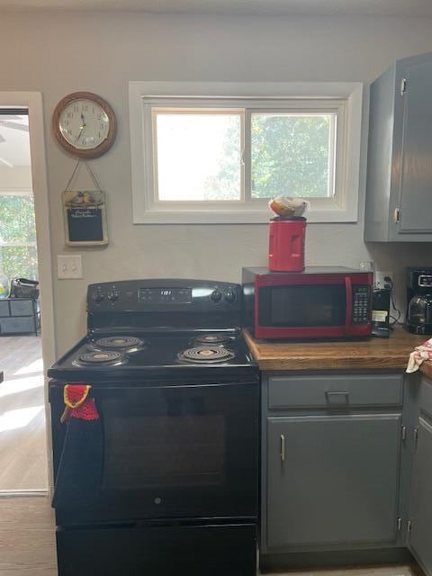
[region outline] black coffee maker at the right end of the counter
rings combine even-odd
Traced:
[[[408,268],[407,329],[432,334],[432,267]]]

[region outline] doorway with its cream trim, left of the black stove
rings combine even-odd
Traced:
[[[17,277],[39,280],[40,297],[12,298]],[[41,97],[0,93],[0,496],[49,491],[44,366],[54,357]]]

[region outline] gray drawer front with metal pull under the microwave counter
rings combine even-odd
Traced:
[[[271,376],[268,379],[270,409],[400,406],[402,399],[403,374]]]

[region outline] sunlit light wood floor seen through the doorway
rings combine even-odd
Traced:
[[[47,490],[40,337],[1,337],[0,372],[0,491]]]

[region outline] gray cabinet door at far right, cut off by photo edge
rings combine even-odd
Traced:
[[[419,418],[419,437],[411,496],[410,551],[432,574],[432,425]]]

